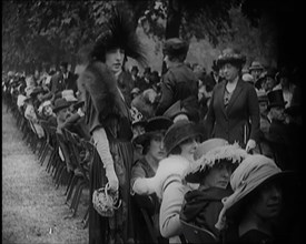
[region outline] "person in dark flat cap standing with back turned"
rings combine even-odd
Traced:
[[[198,81],[184,61],[188,52],[188,43],[178,38],[168,39],[164,44],[165,62],[168,71],[161,81],[161,98],[156,115],[161,115],[175,102],[181,100],[191,120],[198,121]]]

